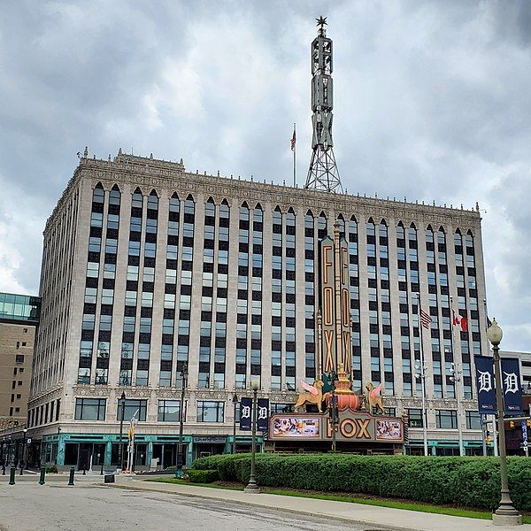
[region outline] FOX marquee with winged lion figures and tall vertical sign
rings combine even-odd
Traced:
[[[336,224],[334,239],[320,242],[320,300],[317,314],[320,375],[301,381],[294,413],[269,420],[269,448],[275,451],[403,453],[407,421],[387,416],[381,384],[352,389],[348,243]]]

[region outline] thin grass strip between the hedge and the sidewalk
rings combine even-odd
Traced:
[[[176,485],[192,485],[194,487],[207,487],[209,489],[243,490],[238,483],[215,482],[215,483],[191,483],[178,478],[156,478],[145,481],[156,481],[158,483],[173,483]],[[260,487],[266,494],[279,496],[295,496],[313,498],[318,500],[328,500],[331,502],[346,502],[350,504],[374,505],[377,507],[389,507],[391,509],[404,509],[406,511],[430,512],[433,514],[447,514],[449,516],[462,516],[465,518],[492,519],[492,514],[486,511],[474,511],[473,509],[458,509],[457,507],[439,506],[424,504],[421,502],[408,502],[400,500],[389,500],[382,498],[347,496],[341,494],[327,494],[325,492],[304,492],[302,490],[272,489],[270,487]],[[531,524],[531,515],[522,516],[524,524]]]

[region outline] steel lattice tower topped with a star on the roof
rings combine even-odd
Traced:
[[[304,188],[342,192],[332,140],[332,40],[327,18],[319,17],[319,33],[312,42],[312,160]]]

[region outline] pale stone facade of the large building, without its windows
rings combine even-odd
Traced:
[[[86,276],[87,276],[87,256],[90,245],[90,225],[91,225],[91,205],[93,193],[96,186],[104,189],[105,203],[103,214],[103,227],[106,227],[108,220],[107,204],[108,197],[113,187],[118,187],[120,194],[119,203],[119,233],[117,237],[118,251],[116,255],[116,272],[113,282],[113,307],[112,307],[112,332],[110,335],[110,348],[108,352],[108,375],[104,385],[96,384],[94,373],[96,372],[96,350],[92,358],[92,372],[90,381],[79,383],[80,371],[80,344],[82,341],[82,319],[85,307],[86,296]],[[156,257],[155,274],[153,285],[153,304],[151,314],[151,339],[149,357],[149,382],[147,386],[119,385],[120,355],[122,350],[122,332],[124,330],[124,300],[126,297],[127,285],[127,249],[129,244],[129,227],[131,223],[132,195],[135,189],[139,189],[143,198],[143,212],[146,212],[146,202],[150,193],[155,192],[158,197],[158,225],[156,237]],[[231,435],[233,426],[232,396],[236,392],[239,395],[246,393],[243,389],[236,389],[235,380],[235,344],[237,337],[236,311],[238,304],[238,235],[239,223],[238,212],[242,204],[247,204],[250,212],[259,204],[263,212],[263,233],[261,248],[262,255],[262,280],[261,280],[261,349],[260,349],[260,384],[259,396],[269,396],[272,403],[289,404],[294,403],[296,393],[282,381],[281,389],[271,389],[272,387],[272,276],[273,267],[273,233],[271,230],[273,223],[273,213],[275,209],[280,210],[282,216],[288,212],[295,214],[295,306],[296,306],[296,327],[295,327],[295,381],[298,388],[298,381],[312,380],[308,378],[305,371],[307,366],[307,352],[305,350],[305,330],[304,330],[304,216],[307,212],[312,212],[315,217],[315,227],[317,228],[317,218],[320,216],[327,219],[327,231],[332,235],[335,219],[349,220],[355,217],[358,224],[358,264],[359,264],[359,333],[361,338],[361,374],[363,381],[371,380],[372,366],[369,337],[371,335],[371,325],[369,319],[369,304],[367,290],[367,250],[366,244],[366,224],[369,220],[378,226],[381,219],[385,220],[388,230],[389,240],[389,295],[391,307],[391,329],[392,329],[392,366],[394,372],[394,393],[388,396],[387,405],[396,408],[396,414],[400,415],[404,409],[420,407],[420,397],[404,396],[402,382],[403,357],[400,350],[401,327],[399,321],[399,293],[398,277],[396,265],[398,262],[396,248],[396,227],[402,223],[404,227],[416,227],[418,241],[418,268],[419,268],[419,293],[421,307],[428,308],[430,288],[427,279],[427,242],[425,231],[427,227],[433,227],[436,232],[441,229],[447,235],[448,244],[446,246],[446,260],[448,264],[448,295],[458,301],[459,293],[456,280],[456,258],[454,254],[453,236],[458,230],[462,235],[471,235],[473,238],[474,266],[475,266],[475,288],[474,297],[476,301],[482,301],[485,297],[484,270],[481,251],[481,218],[477,210],[455,209],[450,206],[435,206],[431,204],[408,203],[381,199],[377,197],[351,196],[348,194],[332,194],[309,189],[296,189],[286,186],[267,184],[258,181],[242,181],[231,177],[219,177],[212,175],[202,175],[198,173],[188,173],[181,163],[173,163],[153,158],[141,158],[125,155],[121,152],[114,160],[99,160],[96,158],[81,158],[80,165],[75,169],[73,178],[69,181],[63,196],[60,198],[57,207],[48,219],[44,230],[44,250],[42,258],[42,318],[41,327],[38,333],[37,347],[35,351],[35,372],[32,381],[32,393],[29,400],[30,410],[30,431],[35,438],[50,444],[58,441],[58,427],[61,434],[68,434],[76,440],[80,440],[83,434],[116,434],[119,429],[117,421],[117,400],[123,390],[126,391],[127,398],[137,398],[147,400],[146,421],[141,422],[138,433],[147,435],[175,435],[178,431],[178,423],[158,422],[158,401],[162,399],[178,400],[180,390],[175,386],[179,383],[179,362],[175,363],[173,358],[173,377],[170,387],[159,385],[159,370],[161,366],[161,329],[164,319],[165,308],[165,265],[166,265],[166,242],[168,235],[168,204],[170,198],[176,194],[182,202],[189,196],[193,197],[195,204],[195,233],[193,241],[193,267],[191,284],[191,309],[190,309],[190,329],[189,329],[189,385],[186,390],[187,416],[185,422],[185,435],[192,436],[221,436]],[[210,384],[203,389],[198,377],[200,362],[197,352],[200,350],[200,322],[202,320],[201,304],[198,301],[202,298],[202,273],[204,272],[203,252],[204,252],[204,219],[205,204],[212,201],[216,207],[225,202],[230,209],[228,222],[228,280],[227,280],[227,316],[226,316],[226,351],[224,358],[224,383],[222,389],[216,389],[214,383],[214,363],[211,359]],[[182,224],[182,206],[181,206]],[[145,216],[144,216],[145,217]],[[251,224],[252,225],[252,224]],[[218,241],[219,220],[216,221],[216,242]],[[179,231],[179,242],[177,247],[182,249],[183,234]],[[104,231],[103,231],[104,233]],[[317,230],[315,231],[317,234]],[[104,236],[102,236],[104,238]],[[146,241],[146,227],[142,226],[142,242]],[[317,238],[315,239],[317,243]],[[105,242],[102,242],[104,245]],[[286,250],[286,243],[283,242],[283,250]],[[251,247],[251,246],[250,246]],[[144,250],[141,250],[140,269],[142,270],[142,258]],[[251,254],[251,253],[250,253]],[[282,252],[285,257],[285,253]],[[317,253],[316,253],[317,256]],[[285,259],[285,258],[283,258]],[[104,269],[104,252],[101,253],[100,270]],[[218,258],[214,258],[214,266],[218,263]],[[285,262],[283,262],[285,264]],[[177,278],[180,278],[181,263],[176,268]],[[215,269],[214,269],[215,272]],[[283,273],[284,274],[284,273]],[[465,273],[463,273],[465,275]],[[103,274],[98,277],[97,301],[95,313],[95,337],[98,333],[98,322],[101,321],[102,291],[104,289]],[[315,285],[318,286],[317,275],[315,275]],[[283,277],[285,278],[285,277]],[[216,273],[214,273],[214,291],[216,287]],[[138,282],[140,285],[140,281]],[[179,281],[177,281],[176,293],[179,299]],[[138,288],[140,290],[140,288]],[[446,290],[446,288],[445,288]],[[318,290],[316,289],[316,297]],[[408,288],[409,296],[412,296],[412,289]],[[282,304],[286,304],[283,295]],[[176,303],[177,304],[177,303]],[[140,303],[138,304],[140,306]],[[136,318],[141,318],[140,310],[136,310]],[[438,310],[438,318],[443,320],[444,314],[441,308]],[[177,307],[175,313],[178,313]],[[410,310],[411,313],[411,310]],[[474,318],[480,323],[485,322],[485,310],[483,304],[479,304],[474,310]],[[437,316],[435,316],[437,317]],[[469,314],[469,318],[471,314]],[[411,315],[413,319],[413,316]],[[213,318],[212,318],[213,319]],[[177,344],[177,324],[175,317],[175,330],[173,332],[173,344]],[[248,325],[251,326],[249,319]],[[382,327],[380,326],[380,332]],[[412,330],[412,325],[411,325]],[[135,353],[134,362],[137,357],[138,331],[135,331]],[[282,340],[285,339],[285,331],[282,331]],[[414,335],[414,333],[412,332]],[[475,341],[475,353],[487,351],[487,340],[483,327],[480,327],[477,336],[474,334],[472,344]],[[212,341],[215,340],[215,333],[212,330]],[[94,340],[96,344],[96,339]],[[462,363],[461,359],[461,336],[453,338],[454,361]],[[248,338],[250,347],[250,337]],[[423,335],[423,350],[427,363],[427,407],[428,426],[430,427],[430,440],[455,440],[457,430],[433,429],[435,426],[435,411],[438,409],[455,410],[456,401],[443,396],[434,397],[432,344],[428,334]],[[96,349],[96,347],[95,347]],[[478,350],[480,352],[478,352]],[[213,351],[213,349],[212,349]],[[470,349],[472,352],[472,348]],[[285,354],[285,348],[282,347]],[[473,358],[473,355],[471,355]],[[213,354],[212,354],[213,358]],[[468,362],[472,364],[473,362]],[[472,371],[473,367],[471,366]],[[286,374],[286,361],[282,359],[281,373]],[[383,368],[381,368],[383,375]],[[443,371],[443,381],[446,381]],[[243,376],[243,375],[242,375]],[[244,374],[246,386],[249,388],[251,364],[246,366]],[[466,375],[469,377],[469,375]],[[283,376],[282,376],[283,378]],[[135,382],[132,381],[132,384]],[[443,389],[446,389],[446,383]],[[473,400],[473,381],[469,383],[471,394],[469,399],[463,401],[463,410],[475,410]],[[414,387],[414,386],[413,386]],[[76,398],[81,397],[102,397],[106,398],[105,415],[102,421],[75,420]],[[198,400],[219,401],[225,404],[224,421],[217,423],[197,422],[196,404]],[[54,404],[53,417],[48,418],[42,413],[50,411]],[[465,426],[465,417],[461,419],[462,426]],[[410,438],[419,439],[421,435],[418,430],[410,430]],[[242,434],[241,434],[242,435]],[[61,435],[58,445],[60,454],[59,460],[65,451],[66,435]],[[469,441],[481,441],[481,431],[466,431],[466,439]],[[228,439],[227,439],[228,440]],[[149,447],[150,448],[150,447]],[[57,449],[56,449],[57,450]],[[110,458],[110,447],[105,449],[106,458]],[[149,455],[149,449],[148,449]]]

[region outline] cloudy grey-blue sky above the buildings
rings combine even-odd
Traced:
[[[531,350],[531,4],[5,0],[0,290],[38,293],[42,229],[89,145],[281,182],[311,154],[314,18],[335,44],[350,192],[479,202],[490,316]]]

